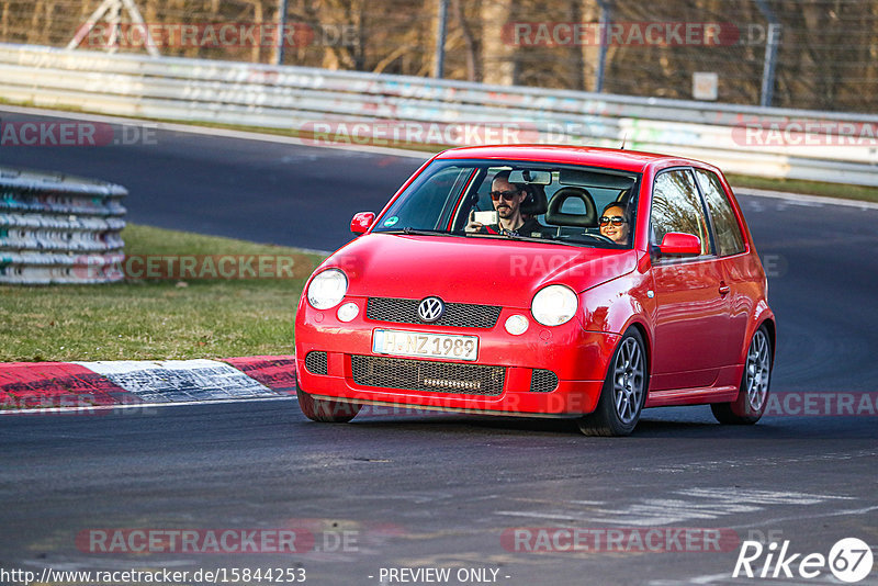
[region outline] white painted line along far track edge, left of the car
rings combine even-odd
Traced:
[[[375,155],[389,155],[392,157],[406,157],[426,161],[443,147],[437,147],[436,153],[405,150],[371,145],[316,145],[309,140],[303,140],[295,136],[283,136],[279,134],[268,134],[250,131],[233,131],[230,128],[214,128],[210,126],[198,126],[190,124],[178,124],[173,122],[154,122],[150,120],[128,119],[123,116],[106,116],[102,114],[87,114],[83,112],[65,112],[64,110],[41,110],[38,108],[25,108],[18,105],[0,105],[0,112],[13,114],[27,114],[32,116],[49,116],[67,120],[81,120],[85,122],[101,122],[105,124],[127,124],[130,126],[148,126],[159,131],[170,131],[178,133],[199,134],[203,136],[219,136],[223,138],[238,138],[241,140],[261,140],[263,143],[278,143],[282,145],[296,145],[314,148],[333,148],[336,150],[351,150],[354,153],[371,153]]]

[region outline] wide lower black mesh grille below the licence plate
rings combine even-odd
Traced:
[[[496,396],[503,394],[506,379],[503,367],[371,356],[350,359],[353,382],[363,386]]]

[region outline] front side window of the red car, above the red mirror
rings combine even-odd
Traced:
[[[668,232],[682,232],[698,236],[702,255],[712,252],[705,209],[691,170],[675,169],[655,178],[650,225],[655,245],[662,244]]]

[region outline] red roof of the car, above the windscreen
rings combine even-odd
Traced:
[[[643,170],[651,164],[661,164],[660,167],[666,167],[671,165],[695,165],[698,167],[711,167],[701,161],[669,155],[658,155],[655,153],[640,153],[637,150],[621,150],[618,148],[560,145],[494,145],[460,147],[444,150],[437,155],[436,158],[529,160],[539,162],[585,165],[589,167],[606,167],[634,172],[643,172]]]

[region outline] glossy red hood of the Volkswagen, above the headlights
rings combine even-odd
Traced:
[[[637,267],[633,250],[492,238],[369,234],[323,268],[348,275],[348,295],[423,298],[529,307],[550,283],[585,291]]]

